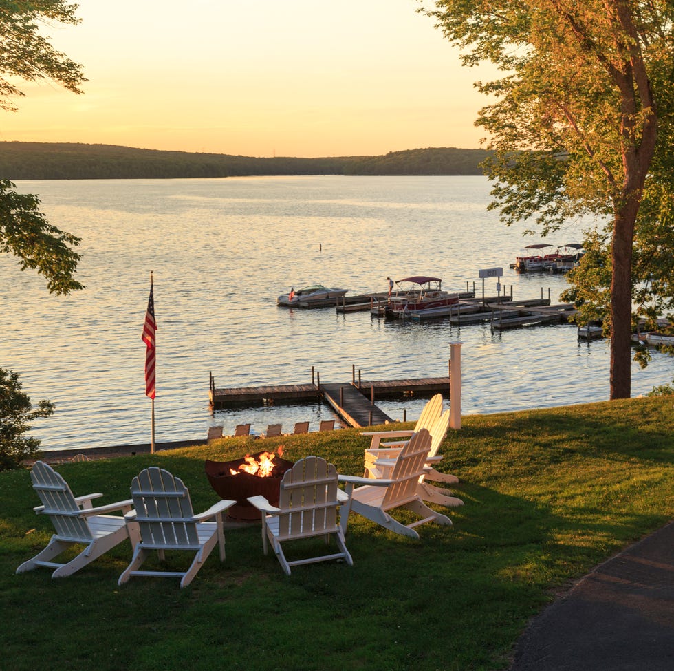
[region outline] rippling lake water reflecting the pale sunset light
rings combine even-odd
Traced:
[[[387,275],[442,277],[448,290],[481,292],[480,268],[502,266],[518,299],[555,301],[562,275],[519,275],[521,231],[487,211],[480,177],[277,177],[213,180],[19,182],[38,193],[52,224],[83,238],[78,279],[86,290],[52,297],[35,273],[0,255],[0,365],[21,374],[36,403],[43,449],[150,440],[140,337],[154,273],[157,319],[157,442],[254,432],[281,422],[333,418],[320,403],[208,409],[208,374],[218,387],[447,374],[449,343],[461,341],[464,414],[603,401],[609,396],[605,341],[578,341],[575,326],[492,332],[448,320],[389,322],[367,312],[288,310],[276,296],[321,283],[350,293],[383,291]],[[578,242],[580,224],[550,239]],[[534,240],[537,242],[537,240]],[[495,280],[487,281],[488,294]],[[671,383],[674,359],[655,352],[633,366],[632,393]],[[424,401],[382,401],[393,418],[415,419]],[[338,422],[339,424],[339,422]]]

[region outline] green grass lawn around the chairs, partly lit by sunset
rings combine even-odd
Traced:
[[[259,526],[232,530],[226,562],[214,551],[183,590],[156,578],[118,587],[128,544],[65,579],[46,569],[15,575],[52,531],[32,512],[39,501],[29,472],[0,473],[0,667],[508,668],[528,620],[569,581],[672,518],[673,411],[674,399],[663,396],[464,417],[439,467],[461,478],[453,489],[465,505],[450,509],[453,527],[426,524],[415,541],[354,515],[353,567],[309,564],[290,577],[263,555]],[[360,475],[367,443],[346,429],[263,445],[284,445],[290,460],[324,456]],[[235,438],[56,468],[76,495],[105,493],[103,504],[128,498],[131,478],[161,465],[202,511],[215,500],[204,459],[261,447]]]

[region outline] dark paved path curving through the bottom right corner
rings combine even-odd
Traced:
[[[674,671],[674,522],[548,606],[510,671]]]

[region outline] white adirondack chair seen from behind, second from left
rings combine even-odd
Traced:
[[[221,500],[204,513],[195,515],[190,492],[180,478],[157,466],[141,471],[131,482],[131,498],[135,510],[125,516],[127,524],[140,527],[140,537],[133,548],[133,558],[120,575],[123,584],[132,575],[180,577],[180,586],[192,582],[215,544],[219,545],[220,560],[225,559],[224,512],[236,501]],[[206,520],[215,520],[208,522]],[[164,560],[166,550],[195,552],[186,571],[140,571],[151,551],[156,550]]]

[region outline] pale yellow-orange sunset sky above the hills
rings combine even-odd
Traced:
[[[244,156],[479,147],[487,103],[415,0],[80,0],[43,31],[85,93],[21,83],[0,140]]]

